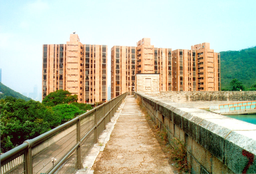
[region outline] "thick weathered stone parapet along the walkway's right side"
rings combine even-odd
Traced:
[[[256,173],[256,125],[136,93],[169,138],[183,141],[194,173]]]

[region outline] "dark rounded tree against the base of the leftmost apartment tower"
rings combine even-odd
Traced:
[[[71,95],[70,92],[64,90],[56,90],[48,94],[42,104],[46,106],[56,106],[58,104],[70,104],[72,102],[77,102],[78,98],[77,95]]]

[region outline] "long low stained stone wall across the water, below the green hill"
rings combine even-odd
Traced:
[[[256,100],[256,91],[168,91],[157,96],[173,102],[252,101]]]

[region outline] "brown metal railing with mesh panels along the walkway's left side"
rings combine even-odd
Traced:
[[[73,118],[1,155],[1,173],[75,173],[126,95]]]

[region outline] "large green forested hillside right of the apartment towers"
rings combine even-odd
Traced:
[[[256,83],[256,46],[240,51],[220,52],[221,89],[230,89],[229,83],[234,78],[246,88]]]

